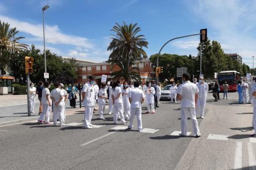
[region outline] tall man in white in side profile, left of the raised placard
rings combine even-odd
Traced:
[[[93,116],[93,108],[95,107],[95,91],[93,88],[94,83],[94,77],[89,76],[88,82],[83,85],[82,89],[82,102],[85,106],[83,129],[93,128],[91,121]]]

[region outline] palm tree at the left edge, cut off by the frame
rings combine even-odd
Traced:
[[[8,73],[11,54],[27,49],[27,44],[18,42],[24,37],[15,37],[19,31],[16,28],[9,29],[9,26],[8,23],[0,21],[0,75],[2,70]]]

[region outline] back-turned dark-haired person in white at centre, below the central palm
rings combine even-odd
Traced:
[[[137,126],[139,132],[142,131],[142,103],[145,100],[145,94],[139,89],[139,82],[134,82],[134,89],[129,92],[130,101],[130,121],[128,129],[133,128],[134,117],[137,116]]]

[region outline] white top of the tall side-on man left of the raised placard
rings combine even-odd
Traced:
[[[83,105],[95,106],[95,92],[91,83],[83,85],[82,92],[85,92],[85,99],[83,99]]]

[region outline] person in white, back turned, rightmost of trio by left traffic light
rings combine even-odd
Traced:
[[[60,126],[64,126],[64,92],[61,90],[59,83],[54,83],[55,89],[51,91],[51,100],[53,101],[53,126],[57,126],[59,118]]]

